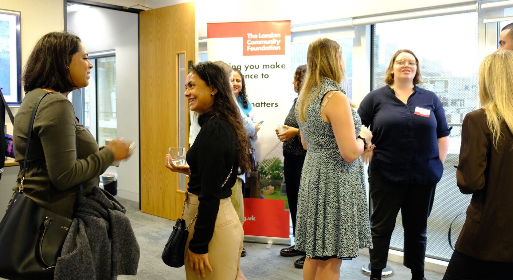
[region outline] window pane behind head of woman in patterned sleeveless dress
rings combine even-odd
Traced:
[[[352,38],[348,39],[338,39],[335,40],[342,47],[342,55],[344,56],[344,62],[346,64],[346,80],[347,86],[342,82],[342,87],[346,89],[347,96],[349,99],[352,99]],[[294,75],[295,69],[298,66],[306,64],[306,53],[308,51],[308,45],[310,43],[299,43],[299,44],[291,44],[291,59],[292,59],[292,69],[290,74],[290,82],[292,82],[292,76]],[[292,86],[290,87],[292,89]],[[297,96],[293,90],[291,90],[290,95]]]

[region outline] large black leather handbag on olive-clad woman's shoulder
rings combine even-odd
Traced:
[[[21,185],[0,222],[0,277],[7,279],[53,279],[57,257],[61,255],[71,225],[71,219],[42,208],[23,194],[35,114],[41,100],[50,93],[41,96],[34,105]],[[82,193],[82,186],[80,189]]]

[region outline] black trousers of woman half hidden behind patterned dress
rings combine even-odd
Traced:
[[[283,173],[285,185],[287,186],[287,198],[289,202],[290,216],[292,217],[292,228],[295,234],[295,215],[298,213],[298,193],[301,182],[301,171],[305,156],[283,153]]]

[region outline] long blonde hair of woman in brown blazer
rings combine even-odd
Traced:
[[[504,133],[505,122],[513,132],[513,51],[500,50],[487,55],[479,67],[479,99],[486,112],[486,124],[493,133],[494,147]],[[513,149],[513,147],[511,147]]]

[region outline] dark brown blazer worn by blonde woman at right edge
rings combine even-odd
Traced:
[[[496,149],[483,109],[463,120],[456,177],[472,199],[455,247],[483,261],[513,262],[513,135],[501,126]]]

